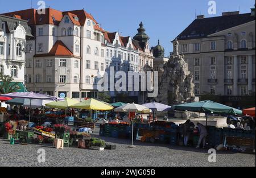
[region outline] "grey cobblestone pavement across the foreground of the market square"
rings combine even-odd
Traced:
[[[36,144],[11,145],[0,139],[0,166],[255,166],[255,155],[250,154],[218,152],[217,162],[209,163],[207,150],[141,142],[135,142],[136,148],[127,148],[130,140],[102,139],[115,144],[116,150],[96,151],[67,147],[57,150]],[[45,163],[38,163],[39,148],[46,150]]]

